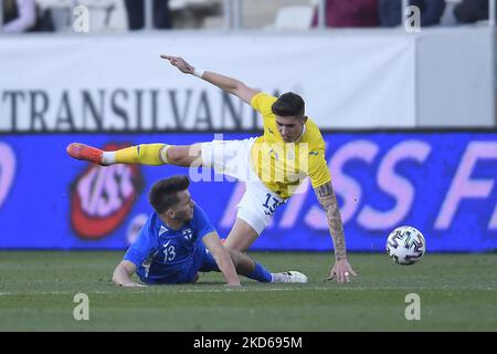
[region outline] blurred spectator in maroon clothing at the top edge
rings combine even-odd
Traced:
[[[326,0],[326,27],[377,27],[378,0]],[[318,23],[317,9],[313,27]]]

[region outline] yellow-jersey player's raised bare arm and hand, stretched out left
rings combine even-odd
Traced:
[[[171,55],[160,55],[162,59],[169,60],[171,65],[179,69],[184,74],[195,74],[195,67],[187,63],[180,56],[171,56]],[[201,79],[205,80],[207,82],[210,82],[211,84],[220,87],[221,90],[231,93],[235,96],[237,96],[243,102],[246,102],[251,104],[251,100],[253,96],[255,96],[260,91],[255,88],[251,88],[247,85],[245,85],[243,82],[224,76],[211,71],[205,71],[202,73],[197,73],[197,75],[201,75]]]

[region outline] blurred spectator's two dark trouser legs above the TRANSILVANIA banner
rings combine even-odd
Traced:
[[[144,0],[125,0],[130,30],[140,30],[145,25]],[[172,28],[169,0],[154,0],[152,27],[156,29]]]

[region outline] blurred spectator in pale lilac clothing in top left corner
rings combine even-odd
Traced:
[[[34,0],[3,0],[3,32],[27,32],[36,23]]]

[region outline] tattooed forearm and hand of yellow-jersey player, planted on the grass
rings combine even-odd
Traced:
[[[331,239],[334,240],[336,262],[330,271],[328,280],[336,278],[339,283],[349,282],[350,274],[356,275],[356,273],[347,260],[343,223],[341,221],[337,197],[335,196],[331,183],[329,181],[315,188],[315,192],[320,206],[326,211],[329,232],[331,233]]]

